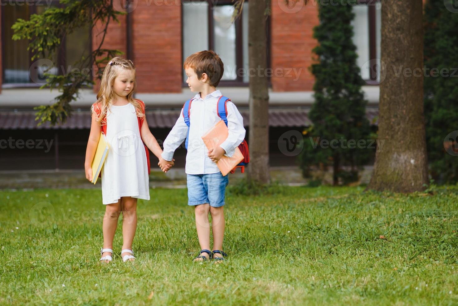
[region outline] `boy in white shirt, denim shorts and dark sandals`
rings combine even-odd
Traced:
[[[228,175],[223,176],[215,164],[223,155],[232,157],[235,148],[245,137],[243,118],[235,105],[227,102],[229,135],[213,151],[209,151],[202,136],[221,118],[218,116],[218,98],[222,96],[216,89],[223,76],[222,60],[213,51],[200,51],[190,55],[183,65],[186,83],[191,92],[197,93],[191,101],[188,152],[185,172],[188,186],[188,205],[194,206],[197,237],[201,246],[200,255],[194,261],[213,259],[224,260],[222,251],[224,238],[224,191],[228,185]],[[164,171],[173,165],[176,148],[185,140],[188,126],[183,117],[183,109],[169,136],[164,141],[164,152],[158,165]],[[208,212],[212,215],[213,251],[210,250],[210,226]]]

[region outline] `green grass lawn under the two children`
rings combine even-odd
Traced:
[[[185,189],[139,200],[135,263],[120,258],[120,218],[110,264],[98,262],[101,191],[0,191],[0,304],[458,305],[458,187],[266,192],[229,190],[229,257],[214,265],[191,261]]]

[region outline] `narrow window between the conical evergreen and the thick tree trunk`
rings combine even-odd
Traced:
[[[381,8],[377,0],[362,0],[353,6],[356,64],[361,67],[361,77],[368,84],[380,82]]]

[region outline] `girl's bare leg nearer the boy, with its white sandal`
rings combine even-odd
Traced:
[[[132,250],[132,241],[134,240],[135,231],[137,229],[137,198],[135,197],[122,197],[121,201],[122,211],[122,249]],[[121,257],[131,255],[125,252]],[[129,261],[133,262],[131,258]]]

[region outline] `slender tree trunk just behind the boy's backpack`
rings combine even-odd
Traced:
[[[248,1],[248,56],[250,63],[250,164],[248,179],[267,184],[269,174],[269,93],[266,7],[268,0]]]

